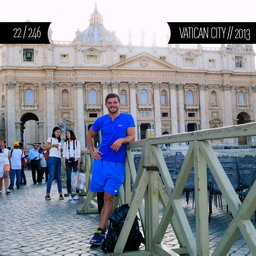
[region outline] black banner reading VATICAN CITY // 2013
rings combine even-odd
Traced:
[[[167,22],[168,44],[255,44],[256,22]]]

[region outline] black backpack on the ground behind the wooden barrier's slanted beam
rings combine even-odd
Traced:
[[[101,249],[104,253],[111,253],[115,249],[116,242],[119,234],[124,225],[126,215],[128,214],[129,206],[124,204],[114,210],[113,215],[110,217],[109,227],[106,238],[104,239]],[[144,238],[139,229],[139,218],[136,216],[132,225],[131,232],[128,236],[124,251],[136,251],[139,249],[141,243],[144,243]]]

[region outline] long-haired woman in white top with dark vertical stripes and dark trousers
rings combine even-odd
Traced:
[[[76,172],[80,170],[80,143],[76,139],[75,133],[72,130],[66,132],[66,139],[63,143],[63,157],[64,157],[64,169],[67,173],[67,190],[68,190],[68,200],[71,201],[72,198],[72,187],[71,187],[71,172]],[[79,199],[79,190],[76,190],[76,195],[74,200]]]

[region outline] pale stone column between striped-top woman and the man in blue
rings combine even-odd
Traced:
[[[84,126],[84,84],[74,83],[76,89],[76,116],[77,116],[77,137],[81,148],[85,149],[85,126]]]

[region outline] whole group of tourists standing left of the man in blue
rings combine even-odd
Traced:
[[[11,193],[13,189],[20,189],[27,185],[26,170],[31,170],[34,185],[46,183],[46,200],[51,200],[50,190],[53,180],[56,180],[59,199],[63,200],[61,169],[67,176],[68,200],[78,200],[80,191],[75,189],[74,197],[71,186],[72,172],[80,169],[80,143],[72,130],[66,131],[64,142],[60,139],[61,128],[54,127],[52,136],[47,142],[34,143],[26,151],[22,143],[15,141],[13,147],[6,147],[6,141],[0,139],[0,194]]]

